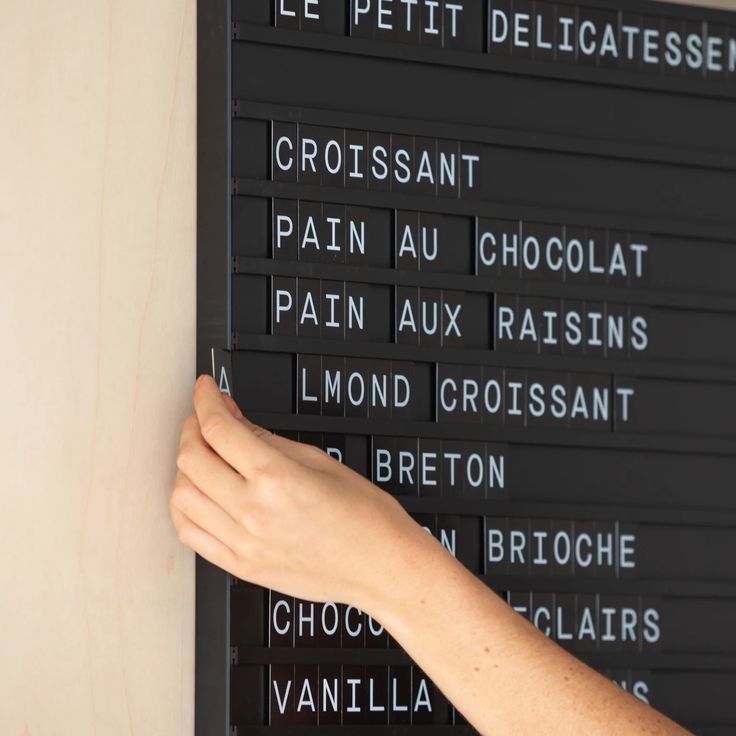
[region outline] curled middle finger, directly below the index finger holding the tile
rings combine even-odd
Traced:
[[[196,416],[184,422],[176,466],[235,521],[240,521],[246,502],[245,479],[204,441]]]

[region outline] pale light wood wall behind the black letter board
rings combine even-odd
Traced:
[[[0,734],[186,736],[195,2],[0,0],[0,49]]]

